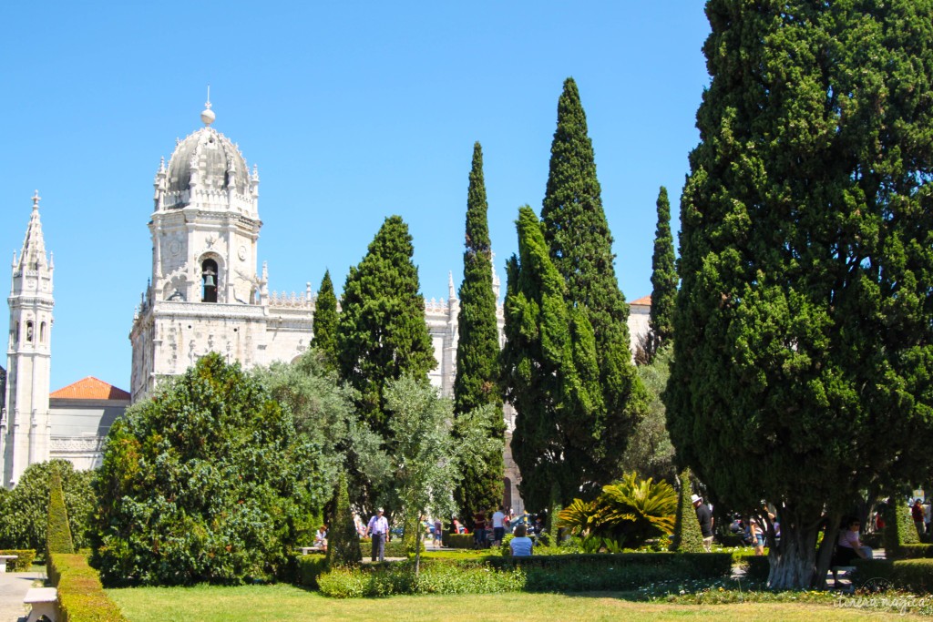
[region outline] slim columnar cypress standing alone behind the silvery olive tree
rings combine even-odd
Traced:
[[[473,515],[488,511],[502,503],[505,465],[502,449],[505,445],[505,422],[502,417],[502,397],[497,385],[499,331],[495,322],[493,292],[493,250],[489,240],[486,186],[482,175],[482,147],[473,145],[473,166],[466,193],[466,251],[464,281],[460,286],[460,312],[457,316],[457,372],[453,380],[454,416],[459,417],[474,408],[486,409],[496,444],[464,474],[453,493],[460,515],[473,528]]]

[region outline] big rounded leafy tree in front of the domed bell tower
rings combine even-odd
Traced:
[[[91,562],[110,585],[281,575],[332,491],[321,450],[254,376],[210,353],[111,428]]]

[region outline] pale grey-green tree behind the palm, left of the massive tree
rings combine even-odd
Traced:
[[[655,481],[674,481],[677,474],[674,444],[667,433],[667,414],[661,400],[671,377],[672,354],[671,344],[661,346],[650,364],[638,366],[638,376],[650,396],[648,413],[635,426],[621,461],[626,472],[634,471],[639,477],[653,477]]]

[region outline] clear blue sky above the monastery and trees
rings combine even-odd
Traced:
[[[160,157],[214,127],[258,164],[270,289],[338,295],[385,216],[411,228],[426,297],[463,276],[474,141],[496,269],[540,211],[564,78],[578,83],[625,297],[650,293],[655,200],[672,225],[699,140],[709,25],[696,0],[7,2],[0,7],[0,253],[37,188],[55,256],[52,389],[129,389],[133,309],[151,275]],[[9,287],[9,270],[0,270]]]

